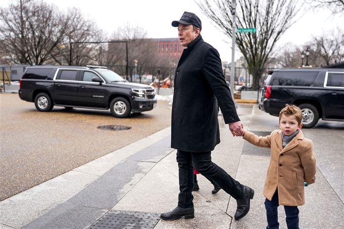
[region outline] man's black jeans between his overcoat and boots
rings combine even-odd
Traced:
[[[216,182],[226,193],[234,199],[243,194],[243,186],[233,179],[225,170],[211,161],[211,152],[185,152],[177,151],[179,167],[179,196],[178,206],[181,208],[193,207],[192,189],[194,185],[194,172],[196,168],[203,176]]]

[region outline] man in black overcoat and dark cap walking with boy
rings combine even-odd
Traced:
[[[184,12],[179,21],[178,36],[184,47],[175,73],[172,108],[171,147],[177,149],[179,167],[178,206],[161,218],[193,218],[193,167],[214,180],[237,201],[236,220],[244,217],[254,191],[241,185],[225,170],[211,161],[211,151],[220,143],[217,102],[233,136],[243,134],[229,87],[226,84],[218,51],[203,41],[201,20]]]

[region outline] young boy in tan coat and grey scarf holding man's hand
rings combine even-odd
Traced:
[[[304,180],[313,184],[317,170],[313,142],[304,138],[302,112],[294,105],[286,105],[279,114],[279,130],[268,136],[245,131],[243,139],[249,143],[271,148],[270,164],[263,194],[266,197],[267,229],[278,228],[277,207],[284,205],[288,229],[298,229],[298,208],[305,204]]]

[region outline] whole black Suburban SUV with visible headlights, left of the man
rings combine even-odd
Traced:
[[[155,89],[131,83],[100,66],[32,66],[20,80],[19,97],[34,102],[38,111],[54,106],[109,109],[118,118],[152,110]]]

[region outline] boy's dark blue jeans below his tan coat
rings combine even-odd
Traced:
[[[267,211],[268,226],[267,229],[278,229],[278,192],[276,190],[272,200],[265,199],[265,209]],[[299,229],[298,227],[298,208],[297,206],[284,206],[285,220],[288,229]]]

